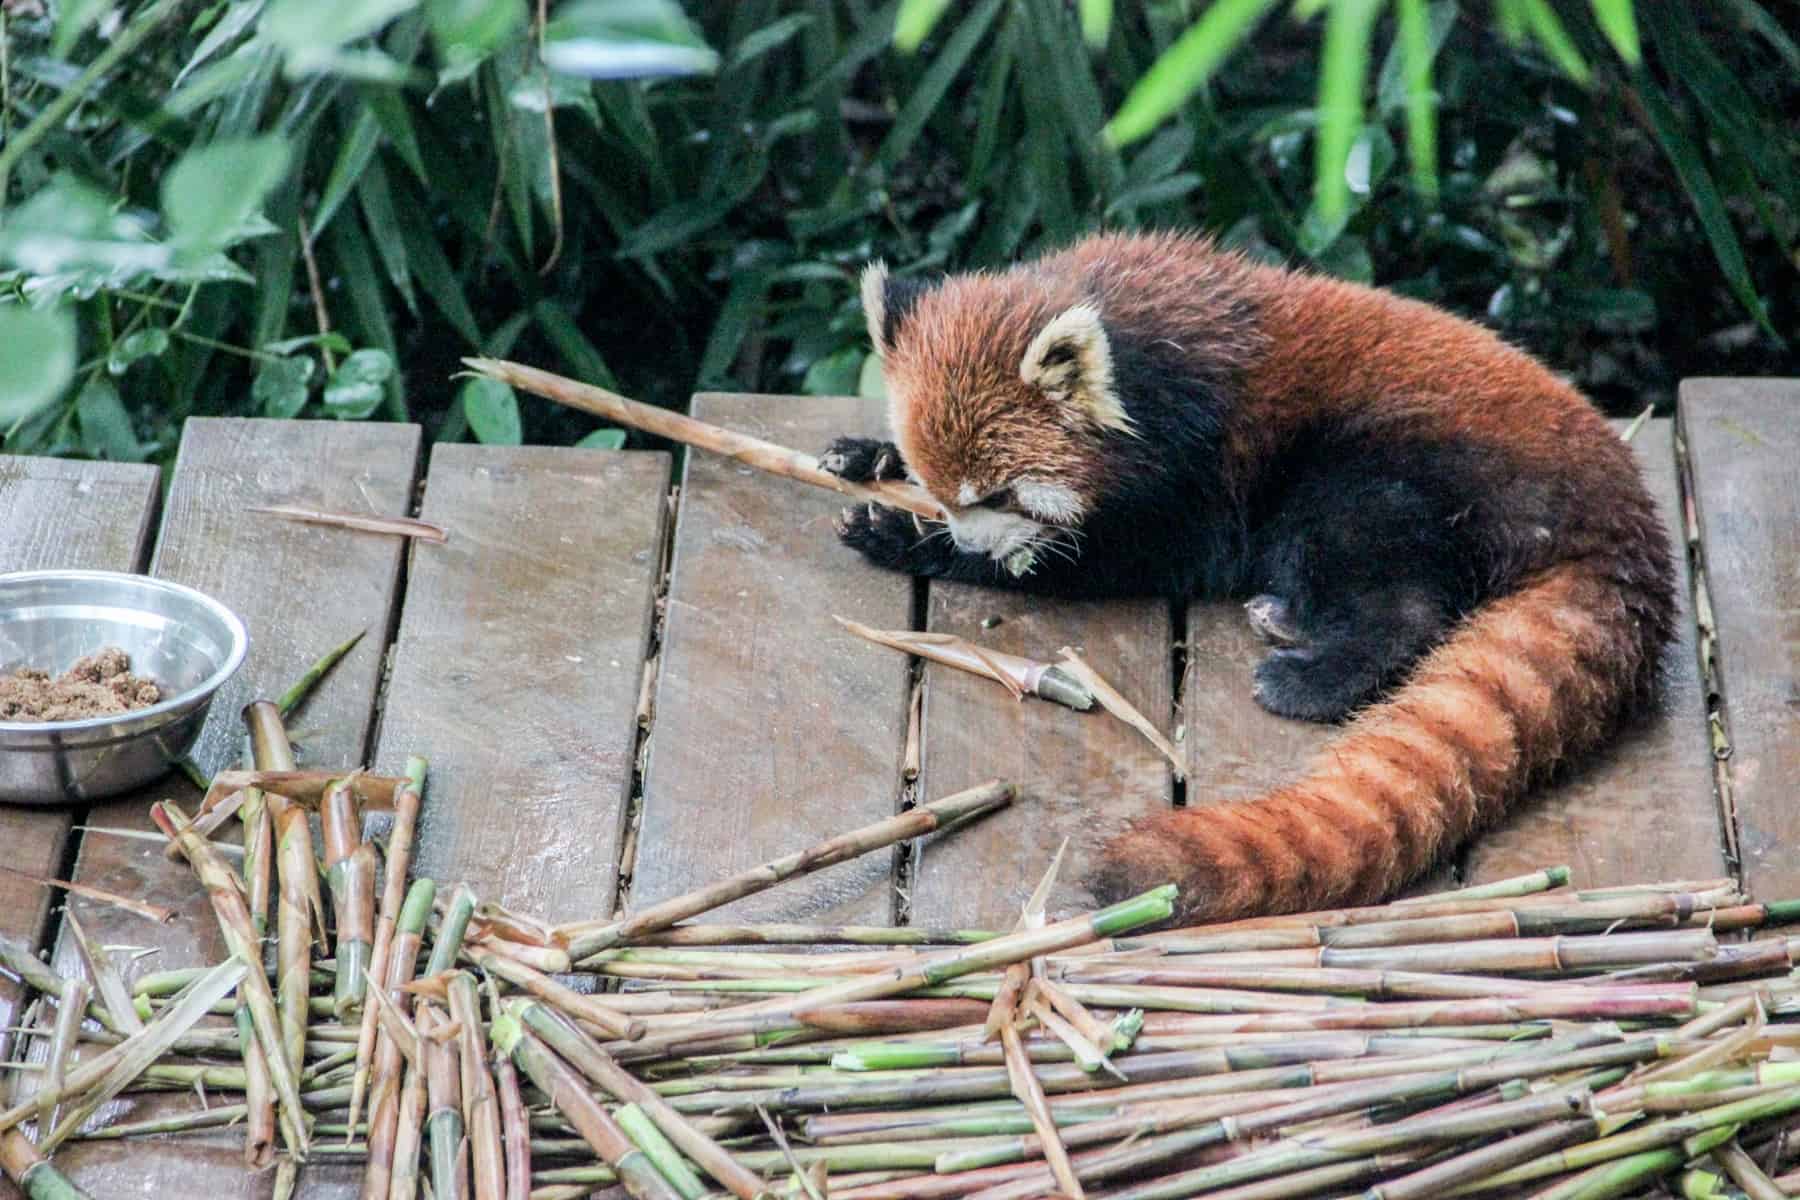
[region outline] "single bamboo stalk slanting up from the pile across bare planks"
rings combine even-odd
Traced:
[[[796,855],[787,855],[785,858],[776,858],[760,867],[752,867],[751,871],[720,880],[711,887],[652,905],[650,909],[644,909],[643,912],[623,921],[607,921],[605,925],[583,928],[571,937],[569,957],[580,963],[592,954],[621,943],[630,943],[644,934],[664,930],[677,921],[700,916],[702,912],[727,905],[733,900],[754,896],[756,892],[767,891],[785,880],[821,871],[833,864],[866,855],[873,849],[893,846],[895,842],[923,837],[925,833],[940,829],[950,822],[972,820],[977,815],[1012,804],[1015,795],[1017,792],[1012,784],[994,781],[977,788],[968,788],[967,792],[958,792],[956,795],[941,801],[920,804],[918,808],[900,813],[898,817],[877,820],[875,824],[855,829],[853,833],[828,838]]]

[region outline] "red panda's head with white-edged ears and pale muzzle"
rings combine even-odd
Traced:
[[[1082,524],[1100,498],[1100,441],[1130,432],[1100,313],[1017,277],[914,290],[880,264],[862,308],[889,426],[958,549],[1008,560]]]

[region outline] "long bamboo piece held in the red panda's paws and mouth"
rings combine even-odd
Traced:
[[[931,498],[931,493],[913,484],[853,484],[826,471],[819,466],[819,459],[810,453],[788,450],[787,446],[778,446],[747,434],[736,434],[716,425],[707,425],[706,421],[695,421],[693,417],[670,412],[668,408],[653,408],[652,405],[626,399],[617,392],[608,392],[603,387],[578,383],[576,380],[551,374],[549,371],[538,371],[536,367],[526,367],[524,363],[504,362],[499,358],[464,358],[463,365],[475,374],[499,380],[500,383],[544,396],[545,399],[554,399],[558,405],[567,405],[569,408],[590,412],[598,417],[612,421],[614,425],[625,425],[634,430],[668,437],[670,441],[679,441],[686,446],[707,450],[711,453],[743,462],[745,466],[754,466],[760,471],[781,475],[783,479],[794,479],[803,484],[812,484],[814,488],[828,488],[830,491],[837,491],[857,500],[904,509],[925,520],[943,520],[943,507]]]

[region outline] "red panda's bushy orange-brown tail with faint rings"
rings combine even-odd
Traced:
[[[1667,578],[1624,560],[1543,570],[1472,613],[1292,784],[1195,797],[1121,833],[1096,894],[1175,882],[1190,921],[1382,900],[1649,696],[1674,622]]]

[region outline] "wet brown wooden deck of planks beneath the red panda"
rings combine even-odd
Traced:
[[[880,419],[853,399],[794,396],[700,396],[695,412],[801,448]],[[1566,862],[1584,885],[1741,871],[1757,896],[1800,896],[1800,381],[1690,381],[1679,421],[1647,425],[1634,446],[1705,569],[1697,612],[1710,624],[1688,622],[1658,720],[1436,883]],[[450,540],[409,552],[247,511],[261,504],[418,511]],[[1073,882],[1087,856],[1123,820],[1255,792],[1327,736],[1249,700],[1260,648],[1237,606],[914,585],[839,547],[837,507],[704,455],[671,479],[666,453],[428,448],[416,426],[196,419],[166,498],[151,468],[0,457],[0,570],[148,570],[241,613],[252,649],[196,750],[207,770],[236,756],[245,702],[367,630],[293,721],[304,765],[392,770],[427,756],[418,869],[553,919],[655,901],[995,775],[1022,786],[1012,811],[727,912],[1001,925],[1064,837],[1075,862],[1053,907],[1069,910],[1085,903]],[[1181,732],[1186,779],[1116,721],[1013,703],[940,667],[914,673],[833,613],[1037,657],[1085,648]],[[70,901],[103,943],[151,950],[130,972],[221,955],[185,864],[79,831],[148,829],[162,797],[196,801],[169,777],[90,811],[0,808],[7,865],[178,909],[151,925]],[[0,874],[0,934],[77,970],[52,898],[13,874]],[[0,975],[0,1027],[18,1007]],[[85,1142],[58,1162],[101,1198],[266,1196],[272,1177],[248,1178],[239,1144]],[[351,1180],[308,1166],[301,1195],[349,1196]]]

